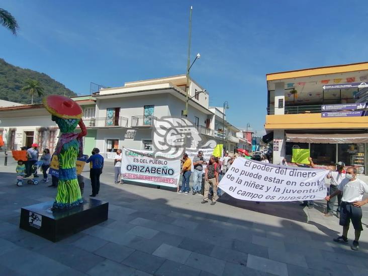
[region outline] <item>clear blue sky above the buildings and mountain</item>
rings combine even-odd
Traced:
[[[91,81],[183,74],[193,5],[191,76],[227,119],[263,131],[265,74],[366,60],[365,1],[28,1],[0,7],[20,25],[0,28],[0,57],[44,72],[77,94]]]

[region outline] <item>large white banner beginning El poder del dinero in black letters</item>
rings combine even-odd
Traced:
[[[282,202],[326,197],[325,169],[287,167],[238,157],[219,183],[230,196],[248,201]]]

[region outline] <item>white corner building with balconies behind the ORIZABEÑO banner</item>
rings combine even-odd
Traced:
[[[177,75],[158,79],[127,82],[122,87],[106,88],[95,94],[96,113],[93,121],[102,123],[98,127],[96,146],[101,152],[115,151],[117,148],[152,149],[151,130],[155,118],[164,116],[183,117],[186,103],[187,79]],[[222,113],[217,108],[209,108],[209,94],[191,79],[189,85],[188,117],[202,136],[203,141],[215,139],[222,143],[223,133],[219,133]],[[108,119],[106,119],[108,118]],[[109,125],[109,126],[107,126]],[[224,136],[224,144],[233,151],[239,131],[225,121],[229,135]]]

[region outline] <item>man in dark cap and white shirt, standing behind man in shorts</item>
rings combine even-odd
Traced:
[[[330,179],[330,188],[329,188],[329,195],[332,195],[335,193],[338,189],[337,187],[340,185],[342,179],[345,178],[344,170],[345,163],[344,162],[337,162],[336,163],[336,170],[331,171],[327,178]],[[336,215],[339,218],[340,217],[340,205],[341,205],[341,193],[337,195],[337,210]],[[331,217],[333,215],[333,206],[335,205],[336,197],[333,197],[331,200],[327,202],[327,211],[325,216]]]

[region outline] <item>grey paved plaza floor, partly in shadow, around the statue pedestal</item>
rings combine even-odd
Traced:
[[[114,185],[106,164],[97,199],[109,219],[60,242],[19,229],[20,209],[53,200],[56,189],[15,183],[15,163],[0,165],[0,275],[368,275],[368,206],[360,250],[338,244],[336,217],[300,202],[245,202],[155,186]],[[84,197],[91,193],[88,172]],[[42,179],[42,178],[40,178]]]

